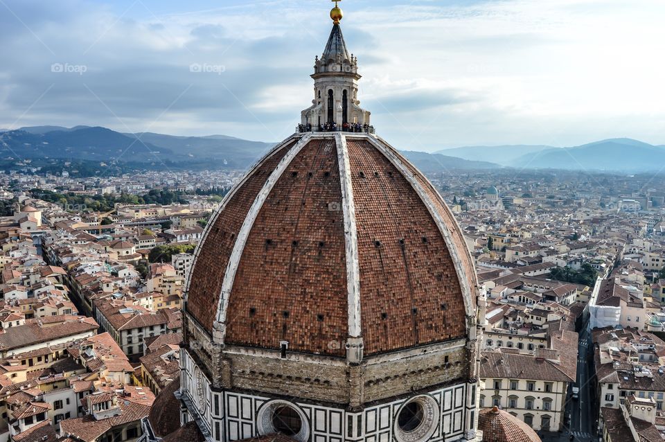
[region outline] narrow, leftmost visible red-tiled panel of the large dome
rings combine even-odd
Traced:
[[[263,184],[294,144],[295,141],[284,143],[283,147],[273,152],[272,156],[263,159],[263,163],[258,163],[249,171],[244,183],[227,196],[227,200],[222,202],[223,209],[209,224],[202,240],[202,245],[206,247],[197,249],[195,265],[205,271],[191,274],[186,310],[210,333],[217,313],[224,272],[233,245],[236,243],[238,231]]]

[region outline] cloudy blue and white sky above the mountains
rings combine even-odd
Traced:
[[[342,0],[397,148],[665,144],[662,0]],[[0,0],[0,128],[289,136],[326,0]]]

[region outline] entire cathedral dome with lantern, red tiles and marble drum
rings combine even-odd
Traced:
[[[210,442],[475,440],[470,251],[436,188],[364,127],[331,17],[299,131],[224,197],[195,251],[179,386],[158,400],[177,397],[163,407]],[[155,419],[168,434],[173,419]]]

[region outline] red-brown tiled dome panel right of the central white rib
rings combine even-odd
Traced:
[[[355,171],[351,177],[365,354],[464,337],[461,287],[427,206],[372,143],[346,139]],[[441,309],[442,303],[447,310]]]

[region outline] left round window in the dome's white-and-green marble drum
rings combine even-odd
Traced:
[[[308,441],[310,437],[307,416],[297,405],[286,400],[271,400],[265,403],[256,417],[261,436],[279,433],[301,442]]]

